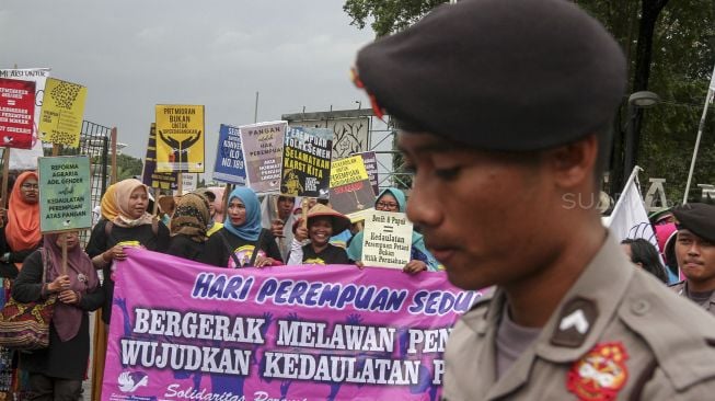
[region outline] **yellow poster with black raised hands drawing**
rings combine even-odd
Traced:
[[[204,106],[158,104],[157,171],[204,172]]]

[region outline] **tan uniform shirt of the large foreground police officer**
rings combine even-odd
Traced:
[[[443,399],[715,400],[715,319],[634,268],[613,236],[497,379],[505,301],[497,289],[457,323]]]

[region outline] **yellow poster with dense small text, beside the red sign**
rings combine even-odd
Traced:
[[[37,129],[44,142],[80,146],[87,88],[48,78]]]

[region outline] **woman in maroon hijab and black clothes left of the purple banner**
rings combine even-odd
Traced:
[[[66,273],[62,242],[67,243]],[[12,288],[19,302],[41,301],[53,294],[57,301],[49,347],[20,354],[20,368],[30,373],[30,400],[78,400],[90,357],[89,312],[102,306],[104,293],[77,231],[46,234],[43,249],[25,259]]]

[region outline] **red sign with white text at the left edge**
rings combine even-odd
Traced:
[[[0,146],[32,148],[35,82],[0,78]]]

